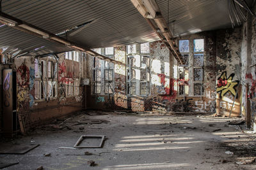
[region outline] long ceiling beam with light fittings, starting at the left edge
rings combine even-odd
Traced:
[[[90,55],[93,55],[93,57],[98,57],[99,59],[107,60],[108,62],[113,62],[115,64],[125,65],[123,62],[109,59],[108,57],[105,57],[104,55],[100,55],[97,52],[93,52],[93,50],[90,50],[90,48],[88,48],[88,47],[84,47],[83,45],[79,45],[72,41],[68,41],[67,39],[61,38],[60,36],[57,36],[57,35],[53,34],[52,32],[45,31],[44,29],[41,29],[40,27],[36,27],[35,25],[24,22],[23,20],[12,17],[3,12],[0,12],[0,23],[4,24],[4,25],[8,25],[9,27],[13,27],[14,29],[17,29],[19,31],[23,31],[28,34],[32,34],[34,36],[38,36],[40,38],[47,39],[49,41],[53,41],[53,42],[61,44],[61,45],[68,46],[68,48],[71,48],[73,50],[79,50],[81,52],[89,53]]]

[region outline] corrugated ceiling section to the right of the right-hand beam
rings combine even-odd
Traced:
[[[226,0],[156,1],[174,36],[232,27]]]

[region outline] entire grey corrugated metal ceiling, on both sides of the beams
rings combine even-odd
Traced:
[[[175,36],[231,27],[225,0],[169,0],[169,10],[167,0],[157,4],[166,21],[175,20]],[[130,0],[3,0],[2,11],[54,34],[94,20],[76,34],[67,34],[68,40],[90,48],[159,39]],[[22,52],[45,46],[33,55],[70,50],[7,26],[0,27],[0,46]]]

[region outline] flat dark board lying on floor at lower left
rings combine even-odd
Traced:
[[[0,154],[24,154],[29,152],[30,150],[33,150],[38,145],[10,145],[10,146],[4,146],[0,148]]]

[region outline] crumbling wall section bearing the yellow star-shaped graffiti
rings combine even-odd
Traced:
[[[232,116],[240,115],[241,31],[241,27],[217,31],[216,107],[220,115],[229,115],[231,109]]]

